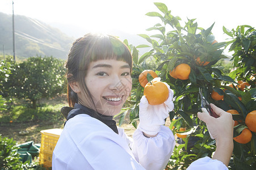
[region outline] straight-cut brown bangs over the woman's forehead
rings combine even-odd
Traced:
[[[82,67],[84,68],[88,68],[89,64],[94,61],[99,61],[103,59],[116,59],[117,61],[127,62],[132,71],[131,52],[129,51],[128,47],[123,44],[123,42],[116,39],[116,37],[114,36],[94,36],[92,39],[90,39],[83,58],[86,59],[86,61],[81,62],[80,65],[83,65]]]

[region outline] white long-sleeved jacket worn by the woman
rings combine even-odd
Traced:
[[[52,169],[163,169],[173,152],[175,139],[169,128],[161,126],[156,137],[146,138],[137,129],[133,139],[118,128],[116,134],[107,125],[87,114],[69,121],[58,139],[52,156]],[[198,167],[200,162],[203,167]],[[196,160],[195,168],[207,169],[209,164],[225,165],[207,158]]]

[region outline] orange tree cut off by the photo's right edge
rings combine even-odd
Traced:
[[[250,25],[240,25],[231,31],[223,27],[223,31],[231,38],[226,47],[230,45],[229,52],[234,52],[231,60],[236,69],[229,76],[240,83],[238,88],[227,87],[228,90],[226,92],[226,99],[230,99],[226,101],[228,101],[230,107],[241,114],[241,124],[234,127],[234,137],[236,138],[239,135],[243,135],[241,131],[245,131],[244,129],[250,127],[250,124],[246,124],[245,118],[250,112],[255,112],[256,110],[256,31]],[[255,124],[255,118],[251,120],[253,117],[247,117],[246,120],[248,121],[248,119]],[[240,167],[244,169],[256,168],[256,133],[255,130],[254,132],[246,131],[247,135],[244,139],[250,138],[252,134],[249,142],[245,144],[238,143],[239,141],[234,142],[233,162],[230,163],[234,169],[240,169]]]

